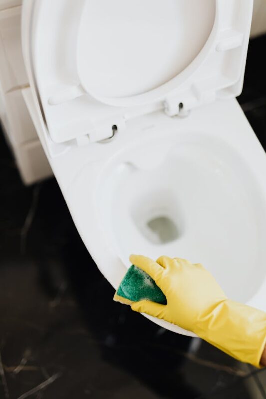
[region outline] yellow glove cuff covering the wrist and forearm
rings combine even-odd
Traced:
[[[228,355],[260,367],[266,345],[266,313],[226,299],[201,318],[194,332]]]

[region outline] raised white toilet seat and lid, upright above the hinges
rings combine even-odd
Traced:
[[[241,91],[252,0],[31,3],[31,66],[55,143],[100,141],[135,116]]]

